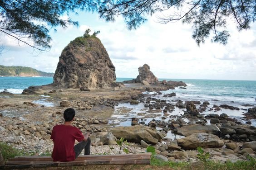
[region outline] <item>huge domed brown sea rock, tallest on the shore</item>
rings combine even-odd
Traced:
[[[95,36],[78,37],[61,53],[53,85],[66,88],[104,88],[116,80],[115,67]]]

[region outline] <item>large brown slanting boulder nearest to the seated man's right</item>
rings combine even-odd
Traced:
[[[124,137],[128,142],[140,143],[141,140],[156,145],[162,136],[148,126],[113,127],[110,132],[117,138]]]

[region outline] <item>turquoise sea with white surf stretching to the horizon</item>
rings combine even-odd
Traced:
[[[117,82],[133,78],[117,78]],[[256,81],[246,80],[192,80],[192,79],[159,79],[183,81],[187,89],[167,90],[163,93],[175,92],[183,100],[219,100],[233,101],[236,104],[256,104]],[[53,77],[0,77],[0,92],[5,89],[10,93],[21,94],[32,85],[53,83]],[[154,92],[151,92],[153,94]]]

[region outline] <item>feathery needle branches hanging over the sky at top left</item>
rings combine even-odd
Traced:
[[[35,49],[48,50],[50,29],[79,25],[70,18],[61,18],[75,9],[94,11],[97,4],[94,0],[0,0],[0,33]]]

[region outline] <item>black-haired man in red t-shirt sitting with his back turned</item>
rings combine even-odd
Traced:
[[[83,133],[71,123],[74,121],[75,110],[72,108],[64,111],[65,123],[54,126],[51,140],[54,142],[52,152],[53,161],[74,161],[84,149],[84,155],[90,155],[91,140],[89,132]],[[74,146],[75,140],[79,143]]]

